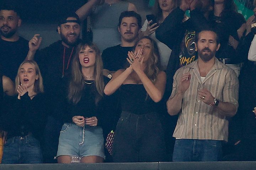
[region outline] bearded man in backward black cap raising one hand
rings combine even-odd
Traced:
[[[75,47],[80,39],[80,19],[76,13],[67,13],[59,21],[57,28],[61,40],[54,42],[48,47],[39,50],[42,38],[39,34],[29,41],[28,60],[36,60],[38,63],[43,81],[44,91],[49,98],[49,113],[45,129],[45,141],[43,146],[44,163],[55,163],[54,157],[57,154],[59,131],[62,126],[62,120],[55,117],[55,108],[59,108],[56,102],[61,100],[59,97],[60,84],[63,83],[63,77],[71,71],[71,62],[75,55]],[[40,119],[40,118],[39,118]]]

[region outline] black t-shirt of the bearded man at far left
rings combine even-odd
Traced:
[[[12,81],[15,81],[18,67],[27,57],[28,50],[28,41],[21,36],[14,42],[0,38],[0,70]]]

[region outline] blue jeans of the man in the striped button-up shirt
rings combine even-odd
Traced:
[[[221,161],[221,141],[176,139],[172,160],[173,162]]]

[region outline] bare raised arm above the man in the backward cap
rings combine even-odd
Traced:
[[[96,5],[103,4],[103,0],[89,0],[86,4],[81,6],[77,11],[76,14],[79,16],[80,20],[83,21],[87,16],[90,15],[92,10]]]

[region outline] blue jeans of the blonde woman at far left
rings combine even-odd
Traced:
[[[32,136],[15,136],[4,145],[2,164],[43,163],[40,143]]]

